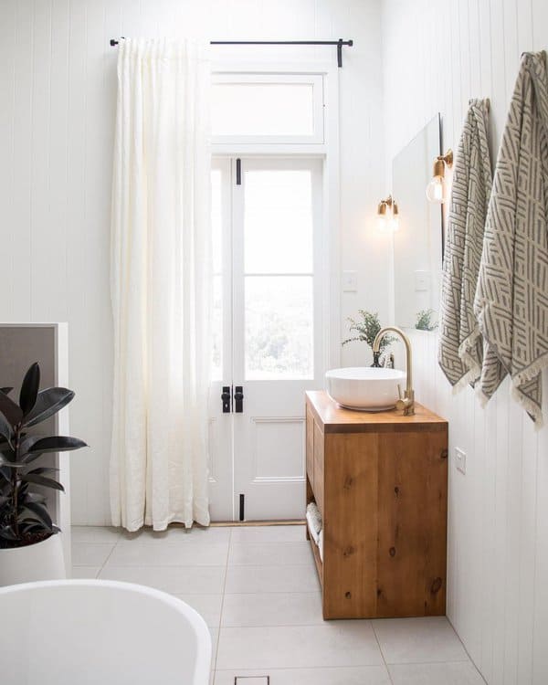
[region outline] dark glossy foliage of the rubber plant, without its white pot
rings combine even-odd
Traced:
[[[35,433],[34,427],[74,397],[67,388],[39,390],[39,385],[40,367],[35,363],[25,374],[18,404],[9,397],[13,388],[0,388],[0,549],[39,543],[59,532],[36,486],[64,488],[52,478],[58,469],[38,466],[37,459],[48,452],[87,447],[78,437]]]

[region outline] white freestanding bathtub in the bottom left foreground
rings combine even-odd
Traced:
[[[5,685],[207,685],[204,619],[131,583],[62,580],[0,588]]]

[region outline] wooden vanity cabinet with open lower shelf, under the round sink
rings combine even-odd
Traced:
[[[307,503],[323,521],[324,618],[442,616],[446,609],[448,423],[342,409],[306,394]],[[308,536],[308,532],[307,532]]]

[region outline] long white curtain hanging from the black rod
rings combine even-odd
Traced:
[[[209,523],[205,47],[121,40],[111,215],[112,523]]]

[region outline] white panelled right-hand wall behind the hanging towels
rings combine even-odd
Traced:
[[[490,97],[496,153],[520,54],[547,47],[546,0],[386,0],[388,166],[437,111],[444,148],[456,148],[470,97]],[[469,390],[453,396],[436,336],[416,332],[413,342],[417,399],[449,421],[448,616],[490,685],[544,685],[548,427],[534,432],[508,383],[486,410]],[[467,453],[465,476],[455,469],[457,446]]]

